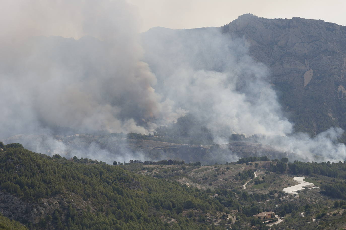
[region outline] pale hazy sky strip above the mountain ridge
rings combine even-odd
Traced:
[[[244,13],[264,18],[322,19],[346,25],[345,0],[128,0],[138,8],[142,29],[223,26]]]

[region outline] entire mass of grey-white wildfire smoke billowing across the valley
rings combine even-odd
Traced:
[[[260,133],[262,142],[307,160],[346,157],[345,146],[334,144],[339,129],[316,139],[291,135],[293,125],[281,112],[266,66],[248,56],[243,39],[219,28],[153,28],[139,36],[136,9],[126,1],[5,6],[2,138],[56,127],[148,133],[190,113],[215,142],[232,133]],[[9,12],[16,17],[5,24]]]

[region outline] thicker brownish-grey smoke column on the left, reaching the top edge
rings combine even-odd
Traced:
[[[7,1],[0,21],[2,137],[56,128],[148,133],[184,113],[155,93],[126,1]]]

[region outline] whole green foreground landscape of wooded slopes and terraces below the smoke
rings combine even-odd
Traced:
[[[19,143],[0,147],[3,229],[267,229],[253,217],[263,211],[314,229],[342,226],[346,214],[345,162],[248,157],[214,166],[173,160],[111,166],[49,157]],[[287,196],[282,188],[303,175],[320,189]]]

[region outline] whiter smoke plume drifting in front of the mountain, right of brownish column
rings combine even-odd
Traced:
[[[257,142],[306,161],[346,160],[346,147],[337,141],[344,130],[330,128],[314,138],[293,132],[268,69],[248,56],[244,39],[220,28],[157,27],[143,33],[142,41],[157,76],[156,92],[204,121],[216,142],[227,142],[232,133],[256,134]]]

